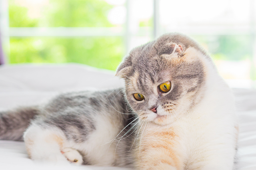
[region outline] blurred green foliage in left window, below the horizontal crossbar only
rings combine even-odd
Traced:
[[[115,70],[122,59],[122,39],[12,38],[10,63],[83,63]]]

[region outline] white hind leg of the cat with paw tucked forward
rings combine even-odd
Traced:
[[[82,164],[78,151],[66,148],[66,137],[56,127],[31,125],[24,133],[28,155],[32,160],[68,165],[69,162]]]

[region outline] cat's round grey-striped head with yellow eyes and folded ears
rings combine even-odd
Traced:
[[[116,75],[125,80],[125,95],[141,120],[172,123],[189,112],[201,98],[209,56],[194,40],[166,34],[136,47]]]

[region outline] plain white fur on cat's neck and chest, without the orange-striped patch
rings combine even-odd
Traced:
[[[143,135],[164,132],[166,129],[175,132],[178,140],[173,149],[180,156],[183,168],[186,167],[185,164],[190,164],[190,170],[232,170],[236,153],[235,127],[238,125],[234,97],[212,63],[202,53],[192,47],[186,53],[198,56],[205,65],[207,78],[203,100],[171,124],[147,125]],[[157,111],[164,115],[161,106]],[[155,113],[150,114],[148,120],[157,119]],[[165,166],[162,169],[166,169]]]

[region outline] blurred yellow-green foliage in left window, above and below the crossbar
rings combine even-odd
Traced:
[[[30,18],[28,8],[9,0],[10,27],[110,27],[111,8],[104,0],[49,0],[42,17]],[[76,62],[115,70],[123,54],[120,37],[10,39],[10,63]]]

